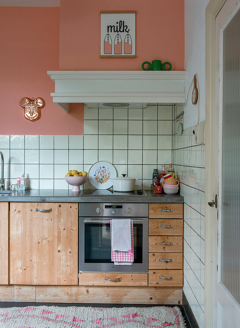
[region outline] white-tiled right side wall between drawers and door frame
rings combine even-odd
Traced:
[[[176,106],[175,117],[184,110]],[[201,122],[200,124],[204,124]],[[174,169],[184,196],[183,291],[200,328],[204,327],[205,145],[196,145],[193,128],[176,134]]]

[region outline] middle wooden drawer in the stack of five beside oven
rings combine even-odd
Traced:
[[[182,236],[149,236],[148,252],[182,253]]]

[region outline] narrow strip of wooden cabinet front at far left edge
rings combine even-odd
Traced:
[[[9,241],[9,203],[0,203],[0,284],[7,285],[8,276],[8,241]]]

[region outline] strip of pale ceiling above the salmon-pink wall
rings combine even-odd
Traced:
[[[0,0],[0,6],[60,7],[60,0]]]

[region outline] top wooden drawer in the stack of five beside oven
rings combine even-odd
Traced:
[[[182,219],[182,203],[151,203],[149,204],[149,219]]]

